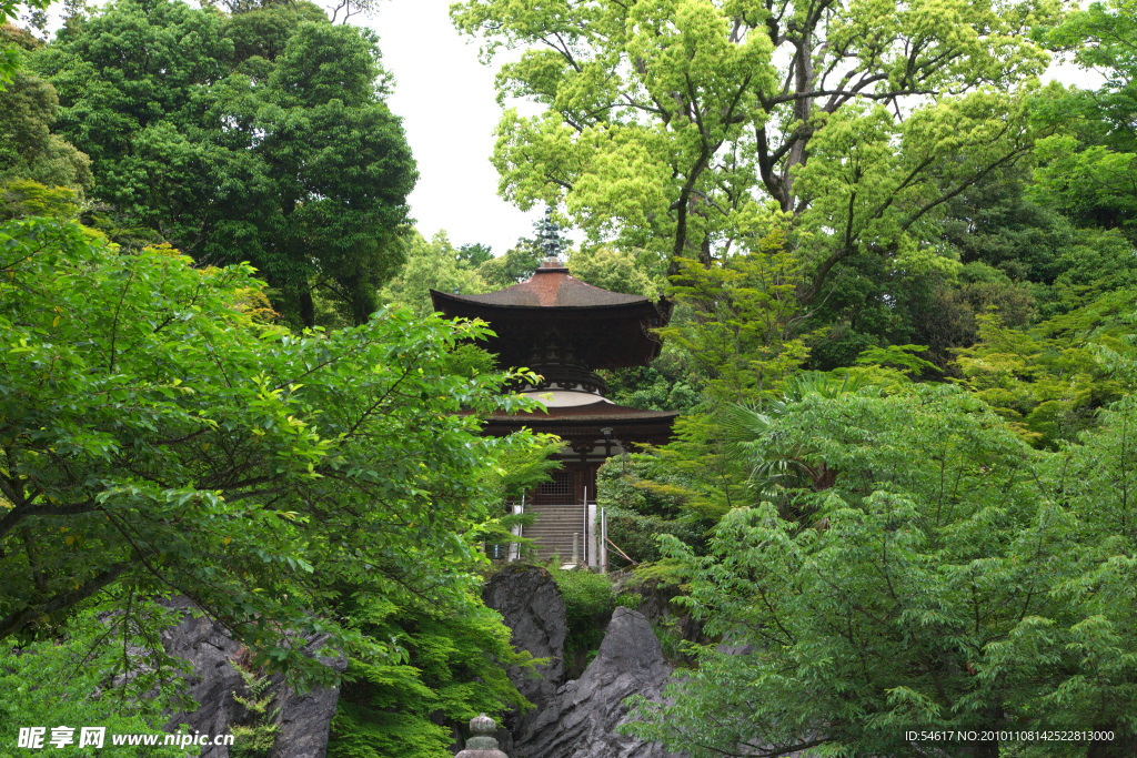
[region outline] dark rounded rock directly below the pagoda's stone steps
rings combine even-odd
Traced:
[[[516,650],[528,650],[534,658],[548,658],[546,666],[538,666],[537,676],[513,666],[509,680],[517,691],[534,706],[543,709],[555,697],[565,677],[565,601],[553,576],[538,566],[511,564],[490,577],[482,590],[482,601],[501,614],[512,632]],[[520,717],[506,715],[509,731],[517,734],[524,723],[536,717],[534,711]],[[503,749],[507,749],[503,744]]]

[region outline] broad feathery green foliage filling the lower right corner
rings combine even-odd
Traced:
[[[763,440],[812,450],[832,481],[731,511],[708,557],[669,540],[705,632],[754,652],[703,648],[678,699],[640,700],[625,728],[697,758],[747,744],[903,757],[932,747],[905,728],[1094,725],[1119,735],[1099,755],[1129,755],[1135,419],[1127,399],[1055,455],[953,388],[806,395]],[[998,749],[1086,755],[1062,747]]]

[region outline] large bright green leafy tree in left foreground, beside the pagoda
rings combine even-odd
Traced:
[[[450,369],[483,326],[395,309],[293,334],[258,323],[247,265],[121,255],[43,218],[0,225],[0,639],[92,605],[152,632],[138,608],[176,592],[256,665],[327,682],[297,633],[400,656],[347,598],[473,602],[501,463],[545,453],[479,434],[531,407],[498,394],[506,375]]]

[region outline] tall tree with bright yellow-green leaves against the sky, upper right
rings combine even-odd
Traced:
[[[451,17],[487,57],[524,48],[499,97],[547,107],[498,126],[505,198],[563,199],[590,240],[650,249],[670,273],[761,238],[772,200],[811,265],[811,301],[860,252],[935,265],[915,227],[1030,151],[1018,90],[1046,53],[1026,32],[1055,10],[466,0]]]

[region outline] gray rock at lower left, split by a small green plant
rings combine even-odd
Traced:
[[[192,666],[193,673],[186,680],[186,688],[199,707],[192,713],[175,714],[167,728],[173,731],[179,724],[188,724],[191,732],[210,736],[229,734],[248,716],[248,709],[233,699],[234,693],[246,699],[250,694],[234,663],[244,655],[244,648],[225,636],[208,618],[194,618],[189,600],[175,599],[172,607],[184,609],[184,615],[181,623],[163,632],[161,644],[167,655],[188,660]],[[326,638],[309,640],[305,650],[315,655],[325,641]],[[347,659],[342,657],[321,658],[321,663],[340,673],[347,669]],[[276,675],[265,693],[273,694],[269,711],[279,708],[275,723],[280,730],[269,758],[324,758],[339,689],[298,694],[284,685],[282,676]],[[209,745],[202,748],[200,755],[205,758],[229,758],[229,748]]]

